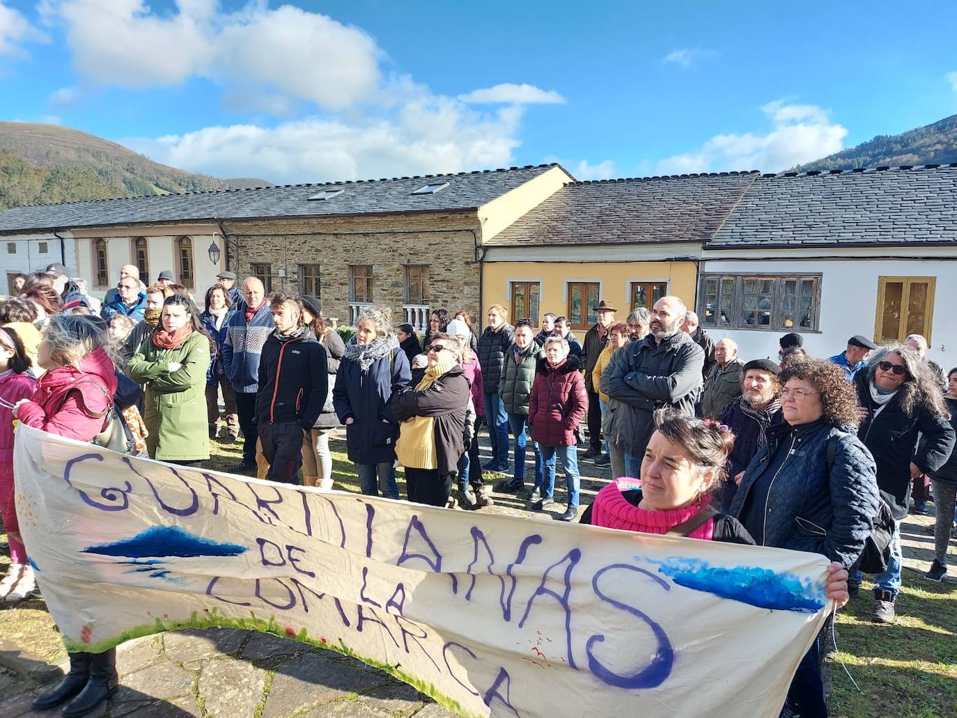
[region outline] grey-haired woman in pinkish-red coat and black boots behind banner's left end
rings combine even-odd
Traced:
[[[107,326],[99,317],[51,317],[37,348],[37,361],[47,372],[37,382],[33,398],[18,402],[13,415],[51,434],[92,440],[108,421],[117,391],[113,362],[104,349],[107,346]],[[63,708],[63,715],[86,715],[116,692],[120,684],[116,648],[69,656],[66,678],[33,701],[37,710],[73,699]]]

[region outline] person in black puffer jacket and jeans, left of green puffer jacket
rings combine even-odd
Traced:
[[[485,423],[492,443],[492,460],[482,466],[488,471],[508,470],[508,415],[499,396],[501,367],[505,351],[515,341],[515,327],[508,324],[508,311],[501,304],[488,308],[488,326],[479,337],[479,364],[485,392]]]

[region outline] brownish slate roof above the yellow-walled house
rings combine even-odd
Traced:
[[[572,182],[486,244],[704,242],[758,176],[715,172]]]

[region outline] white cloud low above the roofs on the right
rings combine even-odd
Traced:
[[[767,134],[716,135],[701,147],[657,163],[658,174],[761,169],[778,172],[840,151],[847,129],[831,123],[816,105],[773,101],[761,110],[771,128]]]

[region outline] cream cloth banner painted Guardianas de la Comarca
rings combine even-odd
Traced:
[[[71,651],[234,626],[463,716],[773,716],[830,608],[810,553],[321,492],[24,426],[14,465]]]

